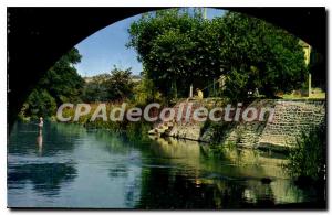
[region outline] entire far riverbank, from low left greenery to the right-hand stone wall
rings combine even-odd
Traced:
[[[190,111],[187,106],[190,105]],[[225,107],[222,99],[191,99],[179,100],[172,108],[175,111],[175,118],[183,116],[180,120],[173,121],[112,121],[96,118],[90,120],[92,114],[81,116],[77,121],[70,122],[83,125],[86,128],[108,129],[115,132],[126,131],[128,133],[157,135],[174,137],[177,139],[194,140],[215,144],[235,144],[242,148],[255,148],[272,151],[288,151],[294,147],[297,140],[303,132],[325,123],[325,99],[257,99],[242,109],[272,109],[271,115],[266,116],[262,120],[231,120],[231,121],[197,121],[193,120],[194,112],[201,108]],[[132,105],[133,106],[133,105]],[[131,105],[127,108],[132,108]],[[107,109],[118,108],[121,104],[107,104]],[[92,105],[91,112],[97,108]],[[238,110],[236,110],[238,111]],[[230,116],[236,116],[236,111]],[[106,112],[110,115],[110,112]],[[65,109],[64,117],[74,116],[73,109]]]

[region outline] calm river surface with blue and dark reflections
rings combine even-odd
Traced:
[[[282,155],[174,139],[135,140],[75,125],[17,123],[8,142],[9,207],[248,208],[320,201]],[[271,182],[262,179],[269,178]]]

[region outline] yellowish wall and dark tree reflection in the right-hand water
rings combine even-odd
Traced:
[[[177,168],[153,168],[144,172],[138,207],[246,208],[255,205],[266,208],[319,198],[317,191],[297,187],[284,174],[282,154],[268,157],[256,150],[225,148],[219,151],[224,154],[216,159],[207,155],[208,146],[195,141],[173,138],[155,141],[152,151],[167,160],[160,163]]]

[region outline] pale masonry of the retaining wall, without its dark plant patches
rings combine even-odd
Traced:
[[[273,120],[236,122],[225,135],[225,143],[255,148],[292,147],[302,132],[324,123],[325,100],[260,99],[250,106],[274,107]],[[225,123],[225,122],[224,122]],[[211,128],[201,132],[203,123],[175,125],[170,136],[210,142]]]

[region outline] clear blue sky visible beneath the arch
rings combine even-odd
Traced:
[[[207,9],[207,19],[225,14],[225,10]],[[142,63],[137,61],[137,53],[127,49],[129,40],[128,28],[137,21],[141,14],[113,23],[90,35],[75,47],[82,55],[81,63],[75,67],[82,77],[110,73],[114,65],[118,68],[132,67],[135,75],[143,71]]]

